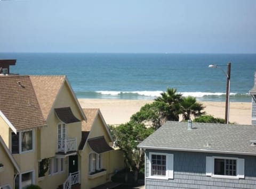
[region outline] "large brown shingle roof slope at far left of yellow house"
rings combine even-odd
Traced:
[[[29,76],[0,76],[0,110],[17,130],[46,125]]]

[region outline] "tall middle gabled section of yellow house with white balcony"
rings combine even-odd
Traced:
[[[79,185],[81,157],[77,152],[85,114],[66,76],[30,76],[30,79],[47,123],[38,135],[39,168],[43,171],[38,173],[38,185],[42,188]]]

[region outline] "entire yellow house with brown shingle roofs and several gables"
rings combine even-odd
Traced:
[[[1,188],[92,188],[124,168],[100,110],[83,110],[66,76],[2,74],[0,89]]]

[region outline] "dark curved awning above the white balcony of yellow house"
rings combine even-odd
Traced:
[[[76,116],[73,114],[70,107],[65,108],[55,108],[55,114],[57,117],[64,123],[75,123],[75,122],[81,122],[79,119],[76,118]]]

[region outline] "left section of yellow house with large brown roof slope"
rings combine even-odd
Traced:
[[[0,76],[0,89],[0,135],[20,169],[18,175],[6,171],[22,188],[37,182],[37,135],[46,122],[29,76]]]

